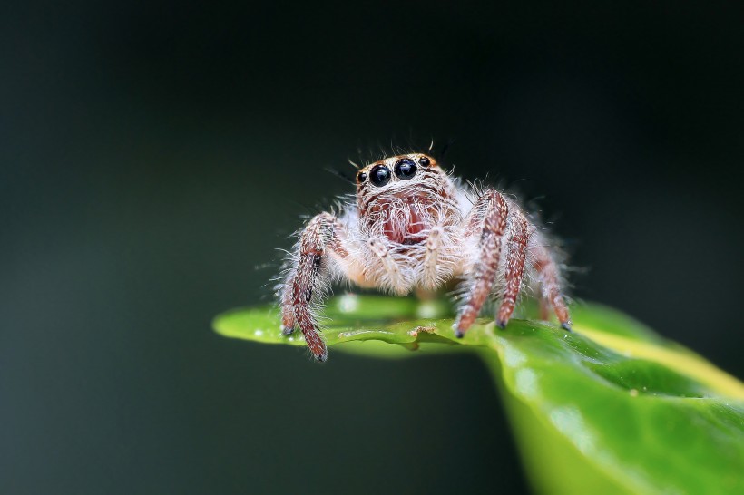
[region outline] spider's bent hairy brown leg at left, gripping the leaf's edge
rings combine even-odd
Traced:
[[[310,352],[318,361],[328,358],[326,344],[318,334],[313,303],[322,299],[327,285],[328,256],[348,258],[345,226],[329,213],[321,213],[308,223],[299,239],[296,264],[281,287],[281,322],[286,335],[299,326]]]

